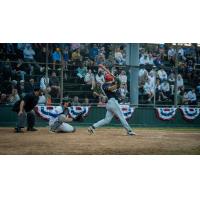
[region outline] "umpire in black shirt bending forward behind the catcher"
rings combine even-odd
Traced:
[[[25,122],[27,121],[27,131],[37,131],[34,128],[35,125],[35,113],[33,108],[37,105],[39,96],[41,95],[40,88],[38,86],[34,87],[32,93],[26,94],[22,100],[19,100],[13,106],[13,111],[17,112],[17,126],[15,128],[16,133],[22,133],[22,128],[25,127]]]

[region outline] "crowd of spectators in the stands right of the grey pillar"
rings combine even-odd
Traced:
[[[140,49],[139,90],[152,102],[173,102],[177,92],[178,105],[197,105],[199,100],[200,53],[194,46],[157,45]],[[176,79],[177,74],[177,79]],[[175,86],[177,85],[177,91]]]

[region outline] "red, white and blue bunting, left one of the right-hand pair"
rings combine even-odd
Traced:
[[[173,120],[177,108],[156,108],[157,117],[161,120]]]

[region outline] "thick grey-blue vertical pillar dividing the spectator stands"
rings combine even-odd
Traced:
[[[130,103],[138,106],[139,44],[127,44],[126,64],[130,66]]]

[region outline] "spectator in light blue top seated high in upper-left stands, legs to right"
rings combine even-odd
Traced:
[[[26,44],[23,54],[24,54],[24,61],[28,63],[30,75],[32,75],[33,71],[34,72],[40,71],[40,66],[37,64],[37,62],[34,59],[35,51],[32,49],[30,44]],[[32,65],[35,66],[35,69],[33,68]]]

